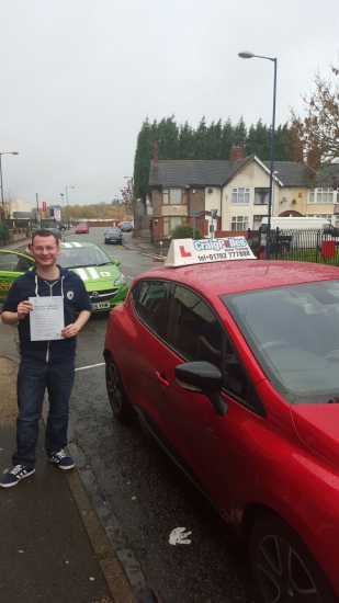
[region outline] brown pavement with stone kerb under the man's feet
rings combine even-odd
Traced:
[[[25,243],[5,249],[21,251]],[[150,237],[136,238],[128,249],[155,253]],[[0,321],[0,476],[12,468],[19,362],[18,329]],[[136,603],[79,471],[61,471],[46,459],[45,417],[46,408],[35,474],[0,488],[0,601]]]

